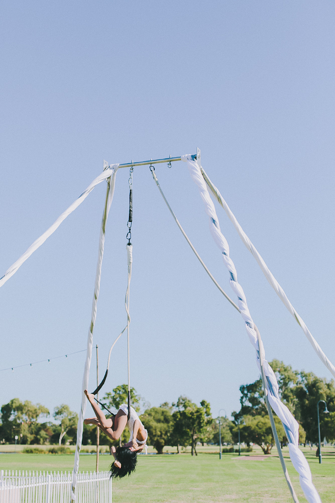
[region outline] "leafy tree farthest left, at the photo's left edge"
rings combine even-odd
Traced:
[[[14,443],[15,435],[18,435],[21,443],[30,444],[38,428],[38,418],[47,414],[49,410],[40,403],[34,405],[29,400],[22,402],[19,398],[13,398],[1,408],[1,437],[6,442]]]

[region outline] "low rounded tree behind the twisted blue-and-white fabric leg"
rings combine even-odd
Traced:
[[[279,417],[274,416],[274,421],[279,438],[283,438],[285,431]],[[240,425],[241,442],[253,442],[261,447],[264,454],[270,454],[275,441],[272,434],[271,423],[268,416],[250,416],[244,417],[245,424]],[[238,437],[238,426],[234,428],[234,437]]]

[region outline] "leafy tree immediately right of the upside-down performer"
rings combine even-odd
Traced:
[[[160,407],[151,407],[141,415],[141,421],[148,430],[148,443],[153,445],[158,454],[163,454],[163,447],[172,432],[173,418],[168,403]]]

